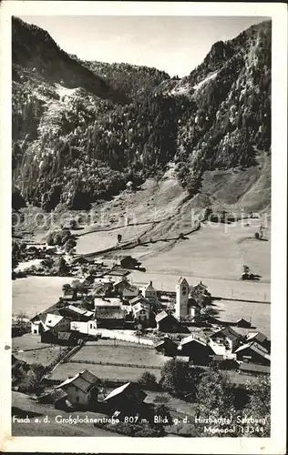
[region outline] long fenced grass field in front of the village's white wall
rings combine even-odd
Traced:
[[[84,346],[77,351],[71,360],[87,360],[87,363],[91,360],[133,363],[145,366],[162,366],[167,358],[161,354],[157,354],[154,349],[147,349],[145,347],[139,349],[138,346],[134,347],[132,344],[130,344],[130,346],[118,346],[111,342],[110,345],[107,346]]]

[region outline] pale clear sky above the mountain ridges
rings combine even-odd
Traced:
[[[268,17],[33,15],[20,16],[52,36],[68,54],[83,60],[154,66],[187,76],[216,41],[239,35]]]

